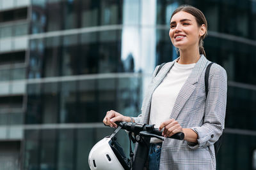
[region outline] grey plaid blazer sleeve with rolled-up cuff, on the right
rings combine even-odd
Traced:
[[[213,145],[218,141],[224,129],[227,104],[227,73],[218,64],[212,64],[211,70],[209,92],[205,101],[204,123],[200,127],[191,127],[198,134],[198,143],[188,143],[190,148]]]

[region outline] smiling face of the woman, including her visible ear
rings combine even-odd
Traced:
[[[173,15],[170,22],[169,36],[175,47],[182,50],[190,46],[198,46],[200,36],[204,34],[205,25],[198,27],[193,15],[185,11],[179,11]]]

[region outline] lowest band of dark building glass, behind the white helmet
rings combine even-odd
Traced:
[[[113,132],[110,127],[90,129],[26,130],[24,169],[89,169],[88,155],[100,139]],[[118,133],[122,146],[128,146],[127,134]],[[125,147],[126,148],[126,147]],[[125,149],[126,151],[126,149]]]

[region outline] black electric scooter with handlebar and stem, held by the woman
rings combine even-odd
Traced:
[[[155,128],[154,125],[148,125],[148,124],[140,124],[140,123],[132,123],[132,122],[115,122],[118,125],[118,128],[111,134],[111,145],[115,145],[116,137],[120,129],[124,129],[129,132],[129,139],[130,139],[130,160],[124,158],[120,153],[118,153],[118,150],[115,149],[115,147],[111,148],[113,149],[113,152],[119,157],[118,160],[121,160],[121,164],[124,167],[125,170],[141,170],[145,167],[145,163],[147,162],[148,158],[148,150],[150,145],[150,138],[157,138],[164,141],[164,137],[162,136],[162,131],[159,131],[158,128]],[[173,134],[173,136],[170,136],[168,138],[172,139],[178,139],[183,140],[184,139],[184,133],[178,132],[176,134]],[[138,143],[138,146],[136,148],[136,154],[135,157],[134,153],[132,152],[131,148],[131,141],[133,143]],[[121,158],[121,159],[120,159]]]

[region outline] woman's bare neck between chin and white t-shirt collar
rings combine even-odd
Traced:
[[[180,50],[179,64],[193,64],[200,59],[199,48]]]

